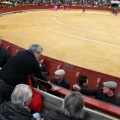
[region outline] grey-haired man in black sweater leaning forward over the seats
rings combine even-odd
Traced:
[[[43,49],[40,45],[33,44],[28,50],[19,52],[13,56],[0,71],[0,91],[6,100],[10,99],[10,95],[17,84],[27,84],[28,75],[34,74],[37,78],[47,82],[42,75],[38,59]],[[42,85],[51,89],[52,86],[45,82]]]

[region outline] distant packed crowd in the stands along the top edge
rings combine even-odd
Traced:
[[[84,6],[106,6],[110,7],[110,0],[11,0],[16,5],[84,5]],[[1,3],[1,2],[0,2]]]

